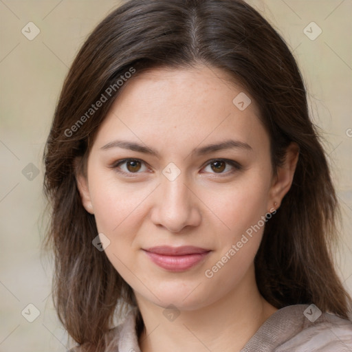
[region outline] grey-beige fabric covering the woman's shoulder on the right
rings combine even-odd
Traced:
[[[241,352],[352,351],[352,322],[315,305],[291,305],[268,318]]]

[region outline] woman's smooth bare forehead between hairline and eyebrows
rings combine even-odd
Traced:
[[[151,69],[127,81],[96,144],[120,137],[165,151],[228,139],[268,143],[254,99],[220,69],[205,66]]]

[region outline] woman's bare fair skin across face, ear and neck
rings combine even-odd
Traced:
[[[135,292],[146,327],[139,338],[143,352],[240,351],[277,310],[259,294],[254,277],[263,226],[211,278],[205,275],[251,225],[273,212],[275,202],[280,206],[298,160],[292,144],[274,175],[254,98],[244,111],[232,102],[241,92],[219,69],[201,65],[136,76],[98,130],[87,178],[77,176],[83,206],[110,241],[105,253]],[[228,139],[251,149],[191,154]],[[150,146],[159,155],[102,148],[114,140]],[[111,167],[128,157],[142,161],[119,166],[129,175]],[[225,163],[219,171],[213,159],[234,160],[241,169]],[[173,181],[162,173],[170,162],[180,171]],[[156,245],[211,252],[189,270],[170,272],[142,250]],[[169,305],[179,313],[173,321],[163,314]]]

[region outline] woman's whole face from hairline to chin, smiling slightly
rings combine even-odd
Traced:
[[[265,214],[281,201],[259,110],[221,76],[153,69],[125,83],[78,178],[109,261],[161,307],[255,285]]]

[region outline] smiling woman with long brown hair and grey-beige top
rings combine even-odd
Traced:
[[[245,2],[109,14],[69,70],[45,168],[72,351],[352,348],[303,80]]]

